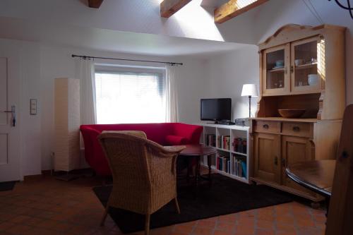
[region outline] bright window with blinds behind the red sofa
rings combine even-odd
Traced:
[[[96,71],[95,89],[99,124],[167,121],[163,71]]]

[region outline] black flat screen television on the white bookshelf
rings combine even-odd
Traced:
[[[230,121],[232,114],[232,99],[201,99],[201,120]]]

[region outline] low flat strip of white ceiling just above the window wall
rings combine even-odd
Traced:
[[[244,44],[170,37],[58,23],[0,17],[0,37],[45,44],[61,44],[109,52],[158,56],[209,55],[239,49]]]

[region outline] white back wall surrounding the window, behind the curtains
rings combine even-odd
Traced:
[[[175,61],[184,63],[179,66],[177,77],[177,88],[179,93],[179,121],[195,123],[199,121],[199,101],[203,92],[207,90],[204,86],[204,61],[192,57],[157,57],[141,56],[131,54],[119,54],[79,49],[74,47],[57,47],[42,45],[40,47],[41,80],[38,87],[42,90],[42,169],[50,169],[51,154],[54,150],[54,78],[75,76],[74,59],[71,54],[85,54],[89,56],[104,56],[125,59],[143,59],[154,61]],[[163,66],[163,64],[133,63],[124,61],[95,60],[97,63],[133,64],[148,66]]]

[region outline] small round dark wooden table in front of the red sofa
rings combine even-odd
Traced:
[[[201,156],[207,156],[207,164],[208,164],[208,181],[211,180],[211,156],[215,155],[217,150],[215,147],[204,146],[204,145],[186,145],[186,148],[179,153],[179,156],[185,157],[195,157],[196,158],[196,187],[198,187],[198,180],[203,178],[200,174],[200,167],[201,167]],[[188,170],[189,176],[189,170]]]

